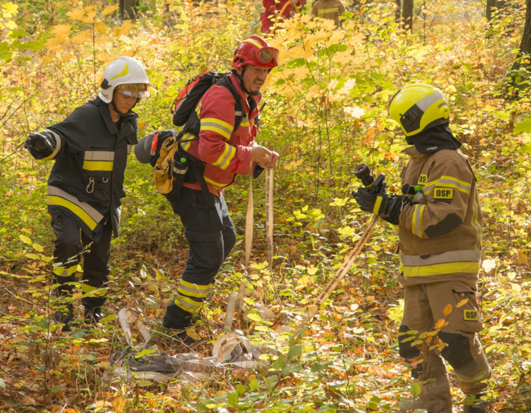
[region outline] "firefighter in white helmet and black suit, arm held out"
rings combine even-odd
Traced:
[[[95,324],[106,301],[110,240],[119,235],[123,176],[137,143],[132,108],[149,96],[141,63],[119,57],[107,67],[97,98],[65,120],[28,136],[35,159],[54,160],[48,179],[48,212],[55,234],[54,284],[60,297],[55,321],[72,327],[72,293],[83,256],[81,302],[86,323]]]

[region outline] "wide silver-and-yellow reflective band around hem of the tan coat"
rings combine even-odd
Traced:
[[[404,277],[425,277],[452,273],[479,273],[481,251],[448,251],[421,258],[420,255],[401,255],[400,271]]]

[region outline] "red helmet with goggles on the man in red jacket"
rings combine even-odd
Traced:
[[[279,65],[279,50],[260,36],[252,35],[240,43],[230,64],[232,67],[255,65],[272,69]]]

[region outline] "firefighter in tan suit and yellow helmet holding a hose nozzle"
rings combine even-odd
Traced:
[[[483,220],[474,172],[448,126],[448,103],[439,89],[405,86],[392,98],[388,114],[413,145],[403,151],[410,156],[401,173],[403,195],[360,188],[354,198],[363,211],[399,225],[405,305],[399,352],[408,361],[423,360],[412,369],[423,383],[421,405],[414,407],[452,412],[445,359],[467,396],[463,411],[489,412],[485,380],[491,370],[477,337],[482,329],[476,295]],[[452,313],[447,316],[448,304]],[[422,333],[436,330],[440,319],[448,322],[438,332],[445,343],[440,352],[411,345]]]

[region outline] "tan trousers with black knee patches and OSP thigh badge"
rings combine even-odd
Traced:
[[[412,376],[423,381],[419,397],[421,408],[432,413],[452,413],[452,396],[448,373],[444,363],[450,363],[457,375],[459,388],[464,394],[478,394],[485,390],[486,379],[492,376],[489,363],[476,336],[483,328],[477,304],[477,280],[418,284],[404,287],[404,315],[400,326],[399,351],[408,361],[423,360],[413,370]],[[468,302],[457,308],[463,299]],[[452,313],[444,315],[450,304]],[[439,350],[428,346],[412,346],[423,332],[434,331],[439,319],[448,325],[441,328],[438,337],[446,344]],[[432,346],[433,343],[430,343]]]

